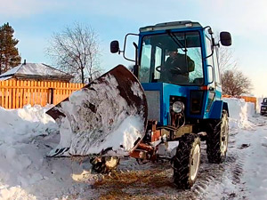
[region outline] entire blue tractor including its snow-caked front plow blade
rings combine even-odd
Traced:
[[[49,156],[91,156],[96,172],[115,169],[122,151],[140,164],[166,159],[174,184],[190,188],[198,176],[200,139],[210,163],[226,156],[229,110],[218,51],[220,44],[231,45],[231,35],[221,32],[219,43],[208,26],[174,21],[140,28],[134,36],[133,73],[119,65],[47,111],[62,139],[69,137]],[[125,57],[125,44],[120,50],[113,41],[110,51]]]

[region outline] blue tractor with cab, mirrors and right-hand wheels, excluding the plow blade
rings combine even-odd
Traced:
[[[220,44],[231,45],[231,34],[221,32],[219,43],[209,26],[174,21],[140,28],[138,36],[132,71],[145,92],[149,123],[131,156],[140,162],[171,159],[175,185],[190,188],[198,174],[200,139],[206,140],[210,163],[225,160],[229,110],[222,100],[218,51]],[[110,52],[125,57],[125,46],[121,51],[113,41]]]

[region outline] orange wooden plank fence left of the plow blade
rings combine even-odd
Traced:
[[[84,84],[45,81],[0,81],[0,106],[23,108],[23,106],[57,104],[82,88]]]

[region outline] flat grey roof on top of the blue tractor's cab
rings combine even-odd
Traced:
[[[202,26],[198,22],[193,22],[190,20],[182,20],[182,21],[172,21],[159,23],[154,26],[147,26],[140,28],[140,32],[148,32],[153,30],[166,30],[166,29],[174,29],[174,28],[202,28]]]

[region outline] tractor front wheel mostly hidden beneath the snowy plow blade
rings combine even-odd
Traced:
[[[93,165],[92,169],[98,173],[109,173],[117,169],[119,158],[117,156],[111,157],[93,157],[90,159]]]

